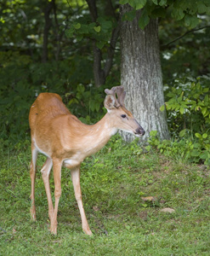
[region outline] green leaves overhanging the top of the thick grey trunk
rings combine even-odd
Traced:
[[[139,27],[144,29],[149,24],[152,18],[165,18],[169,13],[174,20],[179,20],[179,25],[184,25],[189,28],[196,27],[201,15],[210,15],[210,3],[209,1],[171,1],[171,0],[122,0],[121,4],[129,3],[133,8],[128,14],[124,15],[125,20],[133,20],[135,17],[135,10],[142,9],[141,16],[139,18]]]

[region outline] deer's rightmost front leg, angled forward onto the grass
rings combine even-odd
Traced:
[[[80,169],[79,169],[79,166],[77,168],[71,170],[71,179],[72,179],[72,183],[73,183],[73,186],[74,186],[75,197],[76,197],[77,204],[78,204],[78,207],[79,207],[80,215],[81,215],[81,218],[82,218],[82,230],[87,235],[92,235],[92,232],[91,232],[91,230],[89,228],[89,225],[88,225],[88,220],[87,220],[85,212],[84,212],[83,204],[82,204],[82,191],[81,191],[81,187],[80,187]]]

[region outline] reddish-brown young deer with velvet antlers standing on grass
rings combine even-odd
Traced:
[[[84,125],[65,108],[59,95],[41,93],[32,104],[29,113],[31,127],[31,218],[36,220],[34,183],[38,152],[47,156],[41,170],[48,197],[50,230],[57,234],[57,213],[61,195],[61,166],[71,169],[75,197],[82,218],[82,230],[91,235],[82,205],[80,187],[80,165],[88,155],[105,146],[118,129],[139,137],[145,134],[143,128],[124,106],[125,91],[122,86],[105,90],[107,113],[95,125]],[[116,98],[117,96],[117,98]],[[54,206],[49,188],[49,173],[54,166]]]

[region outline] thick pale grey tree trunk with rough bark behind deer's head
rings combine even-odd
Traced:
[[[121,6],[121,17],[130,11],[128,4]],[[158,21],[150,20],[141,30],[138,25],[140,10],[133,21],[121,23],[122,85],[127,91],[126,106],[145,129],[145,142],[150,131],[158,131],[161,139],[169,138],[162,89],[162,68],[158,39]],[[133,136],[122,133],[125,141]]]

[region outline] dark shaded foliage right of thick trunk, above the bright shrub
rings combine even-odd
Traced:
[[[199,26],[191,31],[187,31],[171,17],[167,16],[167,20],[160,20],[159,37],[164,84],[173,86],[173,80],[176,78],[198,77],[210,73],[209,25],[210,16],[207,15],[202,15]]]

